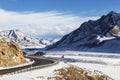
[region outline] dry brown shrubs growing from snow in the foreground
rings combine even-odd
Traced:
[[[105,74],[90,74],[91,72],[69,65],[69,67],[55,70],[55,80],[112,80]]]

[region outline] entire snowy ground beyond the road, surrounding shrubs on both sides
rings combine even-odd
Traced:
[[[64,59],[61,59],[63,55]],[[55,57],[66,63],[60,61],[55,66],[15,75],[4,75],[0,77],[0,80],[46,80],[45,78],[54,76],[53,71],[55,69],[65,67],[67,64],[73,64],[88,70],[102,71],[113,79],[120,80],[120,54],[56,51],[47,52],[45,56]]]

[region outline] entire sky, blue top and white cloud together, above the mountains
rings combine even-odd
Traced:
[[[0,0],[0,30],[56,38],[119,8],[120,0]]]

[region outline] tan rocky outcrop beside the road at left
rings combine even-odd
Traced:
[[[18,45],[0,40],[0,67],[15,66],[25,62]]]

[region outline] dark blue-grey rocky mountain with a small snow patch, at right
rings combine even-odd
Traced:
[[[47,49],[120,52],[120,13],[111,11],[98,20],[84,22]]]

